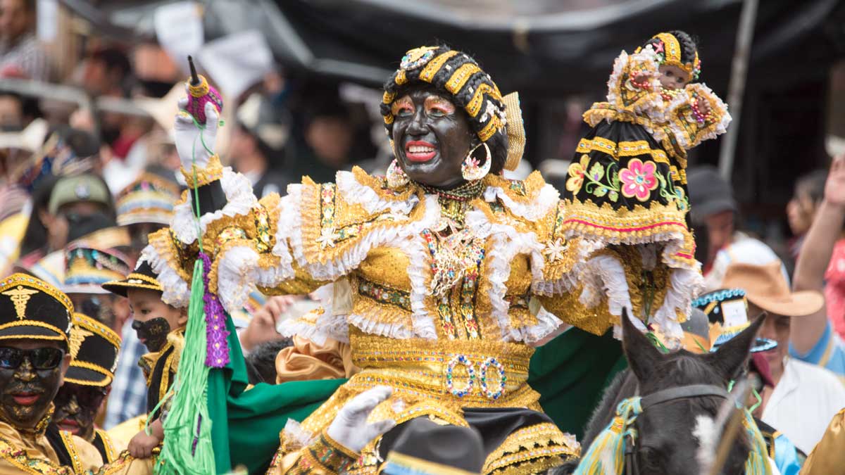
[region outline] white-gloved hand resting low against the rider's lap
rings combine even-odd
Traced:
[[[326,433],[338,444],[360,453],[364,446],[396,427],[393,419],[367,423],[370,412],[392,393],[388,386],[376,386],[353,397],[337,412]]]

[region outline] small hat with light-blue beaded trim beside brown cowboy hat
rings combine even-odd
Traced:
[[[751,325],[748,301],[742,289],[720,289],[707,292],[692,301],[694,310],[706,315],[710,328],[711,351],[730,341]],[[777,341],[757,337],[751,352],[766,352],[777,347]]]

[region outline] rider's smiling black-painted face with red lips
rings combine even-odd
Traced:
[[[437,188],[463,183],[461,163],[473,137],[466,112],[428,88],[412,90],[391,107],[394,154],[407,176]]]

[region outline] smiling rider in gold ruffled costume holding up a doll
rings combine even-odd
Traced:
[[[567,324],[602,334],[622,308],[679,337],[701,283],[694,259],[666,257],[691,243],[686,208],[657,203],[637,227],[627,210],[560,199],[537,172],[505,179],[525,142],[518,97],[447,46],[407,52],[381,109],[395,152],[386,177],[360,168],[335,183],[303,177],[285,197],[260,200],[213,153],[215,106],[199,128],[181,112],[176,141],[191,194],[142,253],[163,299],[188,303],[199,240],[209,291],[230,311],[255,287],[328,286],[333,298],[316,319],[282,330],[348,342],[360,371],[285,427],[269,473],[376,473],[418,418],[478,429],[484,473],[542,472],[577,456],[575,438],[526,383],[533,346]]]

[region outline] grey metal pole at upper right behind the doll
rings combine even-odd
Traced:
[[[733,171],[733,157],[739,137],[739,117],[742,115],[742,98],[745,92],[745,79],[748,78],[748,60],[751,41],[754,39],[756,18],[757,0],[744,0],[742,12],[739,14],[739,29],[731,63],[731,82],[728,87],[728,107],[733,122],[728,127],[728,132],[722,139],[722,149],[719,150],[719,174],[728,181]]]

